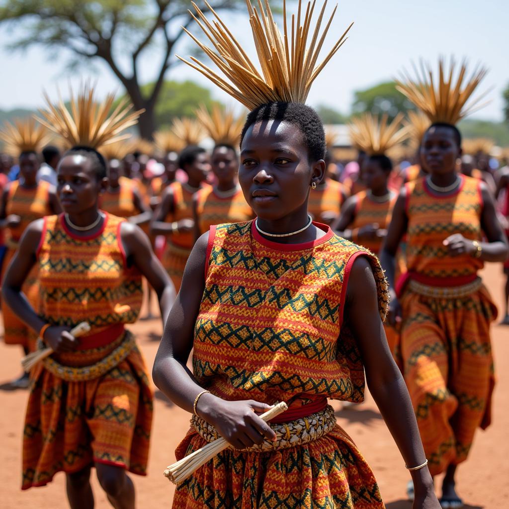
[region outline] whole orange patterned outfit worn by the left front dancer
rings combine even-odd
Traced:
[[[124,324],[142,304],[137,269],[120,239],[125,219],[106,215],[102,231],[77,237],[64,216],[45,218],[38,250],[40,314],[51,325],[88,322],[77,350],[34,367],[23,432],[22,489],[93,462],[145,475],[152,389],[142,354]]]

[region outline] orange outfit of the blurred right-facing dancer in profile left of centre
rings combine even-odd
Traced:
[[[193,196],[185,184],[181,182],[174,182],[168,186],[173,192],[173,212],[169,213],[165,221],[174,222],[180,221],[181,219],[192,219],[193,218]],[[204,188],[208,188],[205,186]],[[191,254],[192,246],[194,245],[194,233],[173,233],[167,238],[166,251],[163,255],[162,264],[166,269],[169,277],[175,286],[175,290],[178,292],[182,283],[182,276],[184,275],[184,269]]]

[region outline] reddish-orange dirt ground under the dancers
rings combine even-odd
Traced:
[[[503,276],[500,265],[491,265],[484,274],[499,310],[502,305]],[[158,320],[140,321],[132,327],[147,363],[152,366],[159,343],[161,324]],[[468,461],[458,474],[459,493],[467,509],[502,509],[509,507],[509,327],[495,325],[493,348],[497,369],[493,425],[478,431]],[[8,381],[20,374],[21,353],[17,347],[0,344],[0,380]],[[163,476],[163,470],[175,461],[174,449],[184,436],[189,415],[158,391],[155,400],[155,421],[150,451],[149,475],[133,476],[137,507],[171,507],[173,485]],[[21,430],[26,391],[8,391],[0,386],[0,507],[14,509],[34,507],[61,509],[68,507],[64,474],[57,474],[53,483],[44,488],[21,492]],[[336,404],[340,426],[354,438],[378,479],[388,509],[410,509],[405,500],[409,475],[398,449],[392,441],[373,399],[355,409],[341,410]],[[93,479],[96,507],[110,507],[96,478]]]

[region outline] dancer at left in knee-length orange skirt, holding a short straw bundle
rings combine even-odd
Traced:
[[[91,108],[93,91],[85,89],[73,104],[77,116],[69,128],[64,104],[49,105],[46,124],[75,145],[58,166],[65,214],[29,225],[3,288],[14,312],[54,351],[32,371],[22,489],[44,486],[56,472],[64,471],[73,509],[94,507],[92,466],[112,506],[135,506],[126,471],[146,474],[152,389],[142,354],[124,324],[138,316],[142,275],[158,295],[163,319],[175,295],[145,234],[98,208],[107,179],[105,161],[94,147],[137,117],[128,115],[122,105],[117,117],[108,117],[113,99],[108,96]],[[90,117],[90,122],[82,122],[83,117]],[[83,127],[97,118],[104,119],[101,135]],[[21,290],[34,265],[39,267],[41,295],[37,312]],[[91,331],[77,339],[69,331],[81,322],[87,322]]]

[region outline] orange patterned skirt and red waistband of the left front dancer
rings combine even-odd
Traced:
[[[51,357],[78,372],[118,351],[126,338],[133,340],[124,332],[105,347]],[[23,490],[94,463],[146,475],[153,393],[137,347],[124,357],[100,377],[75,382],[35,366],[23,430]]]

